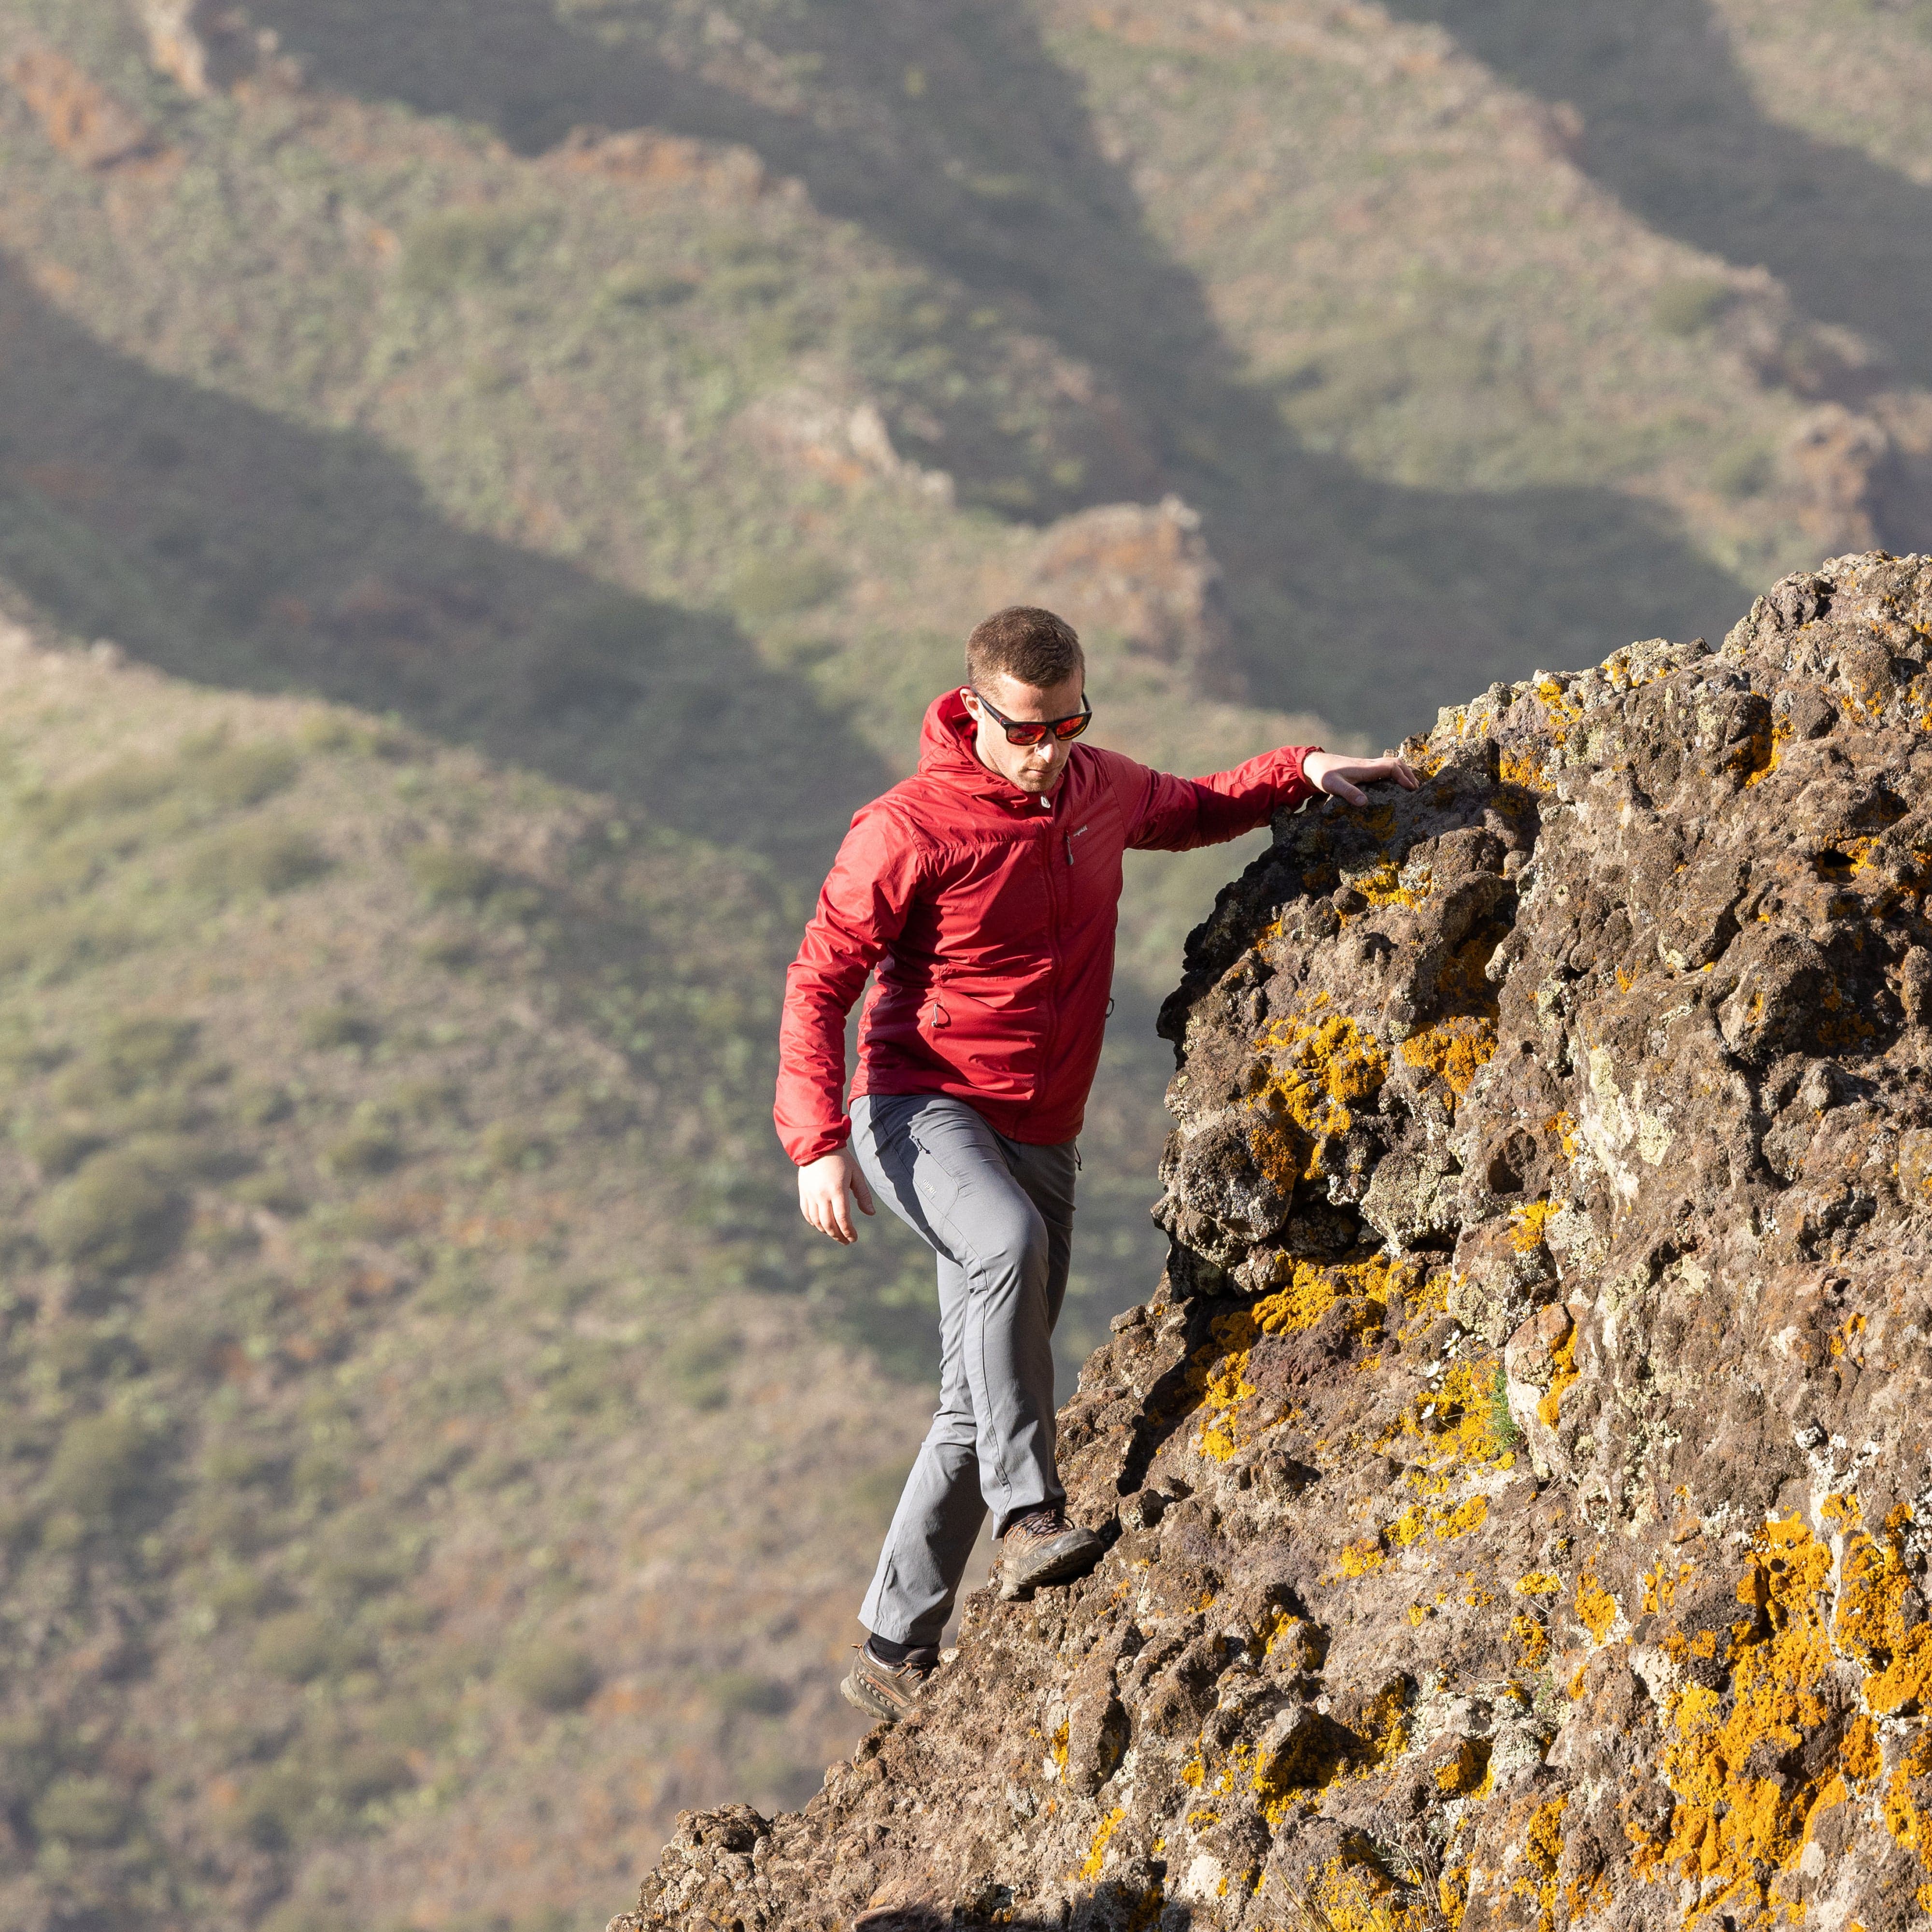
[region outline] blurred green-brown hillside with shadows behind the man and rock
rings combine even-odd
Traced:
[[[599,1924],[856,1735],[929,1271],[773,1028],[985,609],[1206,771],[1932,543],[1918,0],[8,0],[0,170],[21,1932]]]

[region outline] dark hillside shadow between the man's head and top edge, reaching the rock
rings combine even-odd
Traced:
[[[1252,696],[1395,738],[1437,705],[1633,636],[1729,624],[1739,585],[1615,491],[1443,495],[1374,483],[1289,435],[1196,278],[1150,236],[1076,75],[1020,0],[842,0],[765,14],[806,93],[668,37],[593,33],[545,0],[257,0],[317,81],[495,126],[541,153],[576,126],[738,141],[831,214],[958,276],[1092,363],[1157,485],[1208,514]],[[763,75],[763,77],[759,77]],[[1144,468],[1144,466],[1142,466]],[[1140,495],[1105,466],[1086,498]]]

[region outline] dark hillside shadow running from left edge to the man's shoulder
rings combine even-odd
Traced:
[[[176,676],[305,690],[827,864],[891,773],[736,626],[458,529],[369,437],[102,348],[0,259],[0,572]]]

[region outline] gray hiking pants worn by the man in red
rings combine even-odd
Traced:
[[[879,1200],[939,1256],[939,1410],[858,1615],[873,1636],[937,1644],[985,1513],[997,1534],[1065,1501],[1053,1323],[1078,1161],[1070,1140],[1007,1140],[939,1094],[860,1095],[852,1151]]]

